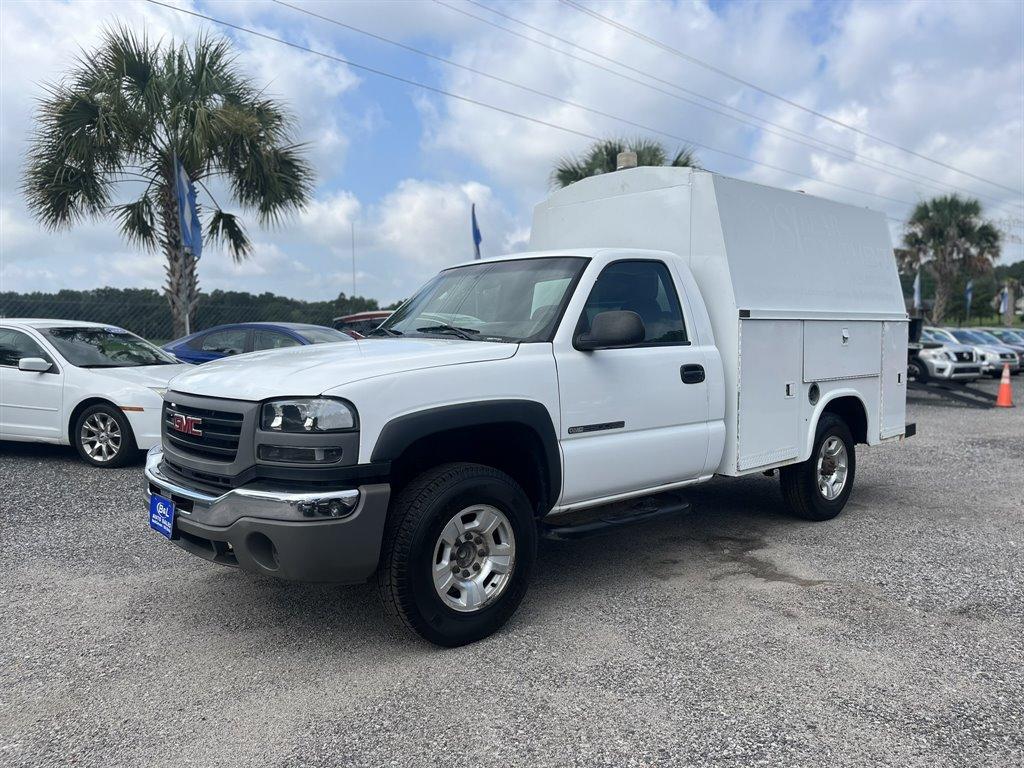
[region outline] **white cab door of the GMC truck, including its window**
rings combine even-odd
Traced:
[[[595,265],[596,266],[596,265]],[[593,267],[592,267],[593,268]],[[703,354],[690,344],[679,292],[656,259],[612,261],[558,334],[561,504],[628,494],[698,477],[708,455]],[[640,315],[644,341],[581,351],[572,340],[600,312]]]

